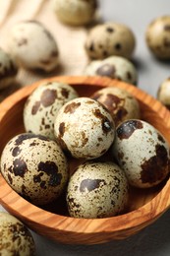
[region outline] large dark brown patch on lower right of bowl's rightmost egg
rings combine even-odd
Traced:
[[[155,156],[142,163],[142,183],[154,183],[162,180],[168,172],[169,159],[164,146],[156,145]]]

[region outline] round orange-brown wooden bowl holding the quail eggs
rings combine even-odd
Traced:
[[[60,81],[73,86],[80,96],[90,96],[104,87],[119,87],[136,96],[142,119],[157,128],[170,143],[170,112],[152,96],[124,82],[101,77],[55,77],[43,81]],[[29,94],[41,83],[27,86],[0,105],[0,153],[15,135],[24,132],[23,108]],[[126,238],[153,223],[170,206],[170,180],[151,189],[133,189],[127,213],[105,219],[74,219],[67,215],[65,200],[42,208],[19,196],[0,175],[0,203],[29,228],[62,243],[96,244]],[[57,209],[56,209],[57,208]]]

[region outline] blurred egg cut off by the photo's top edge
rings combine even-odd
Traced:
[[[93,20],[97,0],[53,0],[53,9],[61,22],[83,26]]]

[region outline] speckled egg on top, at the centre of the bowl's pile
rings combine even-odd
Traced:
[[[115,124],[102,104],[89,97],[77,97],[60,108],[54,132],[62,149],[74,158],[95,159],[111,146]]]

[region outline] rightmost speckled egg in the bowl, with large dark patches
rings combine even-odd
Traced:
[[[112,152],[133,186],[155,186],[169,173],[166,139],[140,119],[127,120],[118,126]]]

